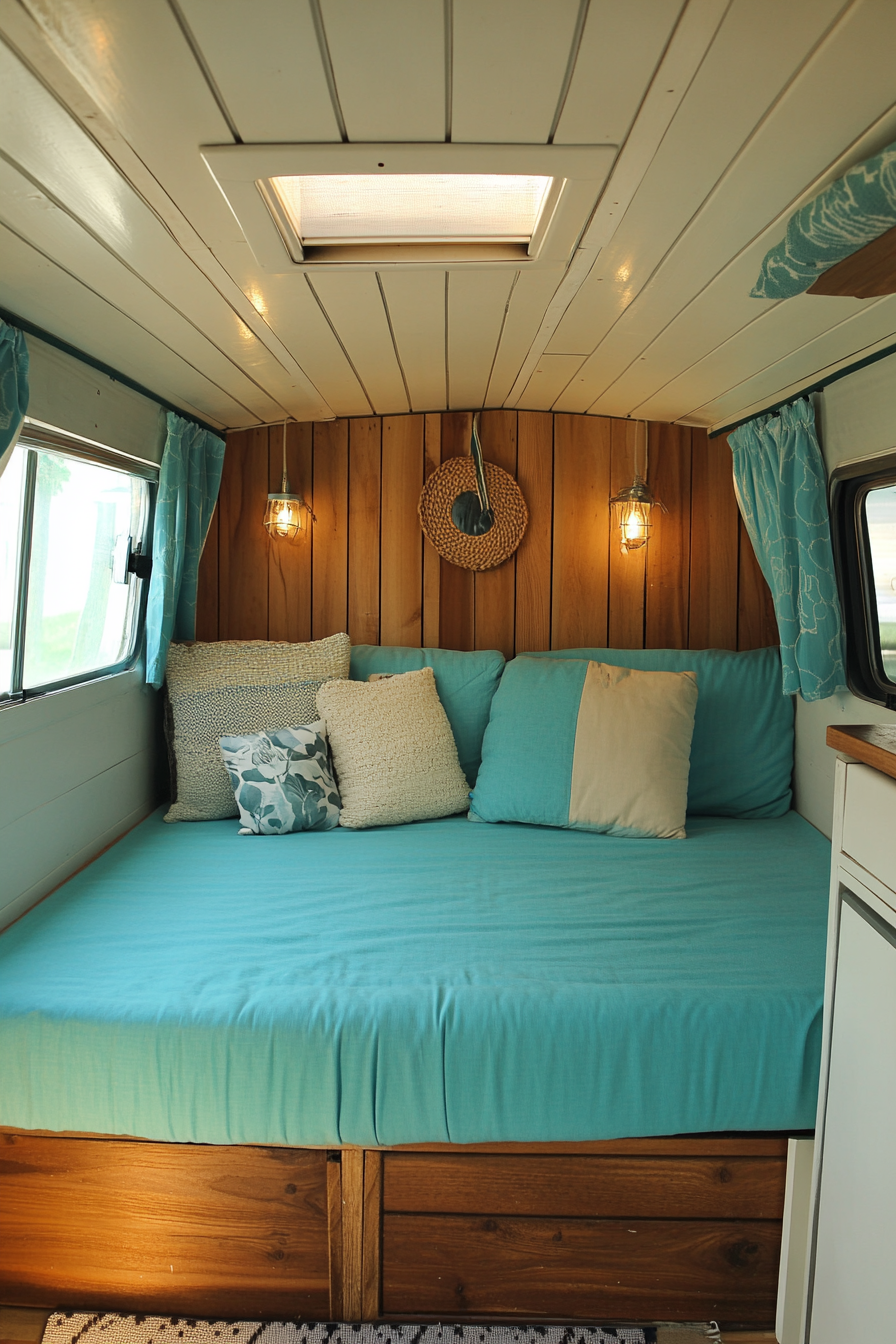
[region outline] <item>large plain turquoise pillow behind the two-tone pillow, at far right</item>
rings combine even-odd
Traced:
[[[780,689],[778,649],[553,649],[529,659],[592,659],[643,672],[696,672],[688,812],[780,817],[790,810],[794,702]],[[551,706],[541,722],[553,723]],[[541,758],[540,758],[541,767]]]

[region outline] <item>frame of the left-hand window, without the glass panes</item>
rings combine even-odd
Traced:
[[[19,536],[16,547],[16,574],[13,589],[13,620],[12,620],[12,673],[11,689],[0,691],[0,711],[12,704],[23,704],[38,696],[50,695],[55,691],[64,691],[70,687],[83,685],[87,681],[98,681],[103,677],[117,676],[133,668],[142,655],[148,581],[134,573],[129,582],[138,583],[136,598],[136,614],[133,620],[133,633],[130,648],[125,659],[101,668],[91,668],[87,672],[77,672],[69,677],[59,677],[55,681],[46,681],[40,685],[24,687],[24,656],[26,656],[26,628],[28,621],[28,586],[31,571],[31,552],[34,540],[35,493],[38,484],[38,453],[54,453],[59,457],[74,458],[90,462],[93,466],[102,466],[120,472],[126,477],[142,480],[148,487],[146,509],[144,517],[144,532],[137,540],[137,550],[132,554],[150,555],[152,527],[156,508],[156,495],[159,487],[159,468],[152,462],[144,462],[130,453],[110,448],[93,439],[82,438],[78,434],[69,434],[64,430],[44,425],[26,417],[24,425],[16,439],[13,452],[26,449],[24,478],[21,482],[21,512],[19,516]]]

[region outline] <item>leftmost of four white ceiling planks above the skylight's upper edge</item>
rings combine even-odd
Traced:
[[[341,138],[308,0],[179,3],[242,140]]]

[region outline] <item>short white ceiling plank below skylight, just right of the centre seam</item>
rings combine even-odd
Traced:
[[[513,276],[453,270],[449,274],[449,407],[485,405]]]

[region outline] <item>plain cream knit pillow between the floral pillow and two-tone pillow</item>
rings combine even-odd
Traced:
[[[340,825],[394,827],[466,812],[461,770],[433,668],[317,692],[343,796]]]

